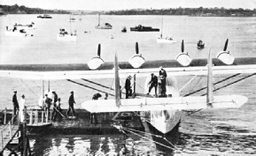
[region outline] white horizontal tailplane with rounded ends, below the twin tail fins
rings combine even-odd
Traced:
[[[120,107],[115,100],[87,100],[81,107],[91,113],[156,111],[170,109],[201,109],[201,108],[239,108],[248,99],[242,95],[213,96],[213,103],[206,104],[206,96],[173,97],[173,98],[144,98],[120,100]]]

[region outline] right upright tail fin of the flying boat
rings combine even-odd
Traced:
[[[207,79],[207,104],[213,103],[213,59],[211,48],[208,56],[208,79]]]

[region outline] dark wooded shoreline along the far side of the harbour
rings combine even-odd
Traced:
[[[0,5],[0,14],[69,14],[72,11],[43,10],[40,8],[28,8],[24,5]],[[216,17],[252,17],[256,16],[256,8],[249,9],[226,9],[226,8],[169,8],[169,9],[132,9],[120,11],[80,11],[81,14],[105,14],[105,15],[187,15],[187,16],[216,16]]]

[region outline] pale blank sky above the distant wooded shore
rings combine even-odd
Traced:
[[[256,0],[0,0],[0,4],[25,5],[30,8],[112,11],[128,9],[166,9],[166,8],[256,8]]]

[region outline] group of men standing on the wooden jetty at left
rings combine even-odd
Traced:
[[[52,99],[50,99],[48,97],[48,94],[45,94],[44,95],[44,98],[43,98],[43,110],[45,112],[49,112],[50,111],[50,106],[53,105],[52,107],[52,120],[55,120],[56,116],[57,115],[62,115],[62,109],[60,108],[60,98],[58,98],[58,94],[56,92],[52,92]],[[23,94],[21,96],[21,99],[17,100],[17,91],[14,91],[14,94],[12,96],[12,103],[13,103],[13,113],[14,115],[17,115],[19,113],[19,120],[21,122],[24,121],[24,108],[25,108],[25,95]],[[71,92],[71,95],[69,96],[69,99],[68,99],[68,105],[69,105],[69,108],[66,112],[66,115],[69,114],[70,111],[72,111],[72,114],[75,115],[75,112],[74,112],[74,104],[75,104],[75,101],[74,101],[74,92],[72,91]]]

